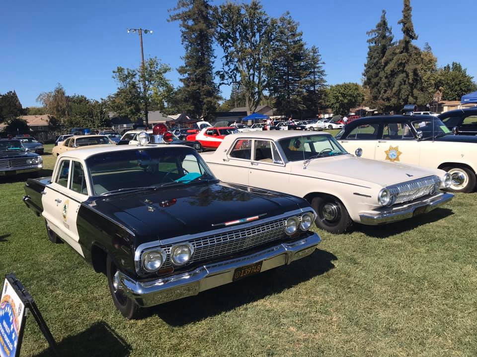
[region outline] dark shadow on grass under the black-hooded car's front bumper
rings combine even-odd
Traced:
[[[152,307],[146,314],[156,314],[171,326],[183,326],[292,288],[333,269],[332,261],[337,259],[334,254],[317,249],[290,265]]]

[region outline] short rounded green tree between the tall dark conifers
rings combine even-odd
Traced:
[[[358,83],[332,85],[327,92],[328,106],[334,115],[349,115],[349,110],[359,106],[364,99],[363,88]]]

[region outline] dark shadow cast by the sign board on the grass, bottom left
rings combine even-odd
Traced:
[[[103,321],[97,322],[78,335],[70,336],[58,344],[59,356],[115,356],[126,357],[131,347]],[[46,349],[35,357],[53,356]]]

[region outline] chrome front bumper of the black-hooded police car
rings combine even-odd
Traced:
[[[239,258],[203,265],[187,273],[141,282],[118,271],[114,280],[126,296],[135,300],[139,306],[154,306],[229,284],[233,281],[235,269],[246,265],[262,261],[260,272],[264,272],[290,264],[312,254],[320,241],[316,233],[310,232],[306,238],[281,243]]]

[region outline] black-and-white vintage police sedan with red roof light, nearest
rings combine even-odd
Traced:
[[[52,242],[65,241],[106,274],[126,318],[289,265],[320,242],[308,202],[221,182],[185,146],[64,153],[52,177],[26,182],[23,202],[45,219]]]

